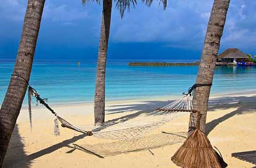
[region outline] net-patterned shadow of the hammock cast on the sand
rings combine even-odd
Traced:
[[[186,140],[186,136],[187,132],[157,133],[154,135],[141,136],[140,138],[130,140],[97,143],[94,145],[73,144],[69,145],[69,148],[79,149],[85,153],[94,154],[99,157],[106,157],[182,143]]]

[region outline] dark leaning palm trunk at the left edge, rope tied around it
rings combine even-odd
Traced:
[[[45,0],[29,0],[25,13],[22,36],[13,73],[27,81],[29,81],[32,69],[44,4]],[[0,167],[4,161],[12,131],[27,90],[27,82],[20,77],[12,75],[0,110]]]

